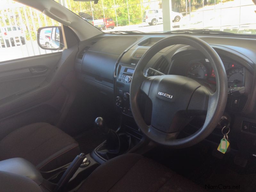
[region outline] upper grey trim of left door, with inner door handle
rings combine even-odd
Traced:
[[[40,87],[57,65],[62,52],[2,62],[0,64],[0,103]],[[39,70],[39,72],[35,72]],[[40,72],[43,71],[43,72]]]

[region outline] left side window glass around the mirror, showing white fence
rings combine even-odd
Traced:
[[[57,52],[44,50],[38,46],[37,29],[60,26],[59,22],[52,20],[42,12],[14,1],[1,0],[1,7],[3,8],[0,11],[0,62]],[[56,42],[60,42],[60,32],[56,31],[54,36]],[[46,31],[40,43],[48,44],[50,40],[51,31],[50,33]]]

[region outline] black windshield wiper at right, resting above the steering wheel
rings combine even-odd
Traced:
[[[164,34],[175,34],[175,33],[237,35],[237,34],[231,33],[231,32],[217,31],[217,30],[212,30],[212,29],[184,29],[184,30],[180,29],[180,30],[164,32]]]

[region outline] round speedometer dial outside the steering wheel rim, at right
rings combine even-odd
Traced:
[[[244,84],[244,69],[240,67],[229,68],[227,71],[228,87],[242,87]]]

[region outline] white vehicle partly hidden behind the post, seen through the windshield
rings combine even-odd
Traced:
[[[183,17],[181,13],[173,12],[171,13],[172,21],[179,22]],[[162,9],[148,9],[144,12],[143,22],[149,25],[156,25],[158,22],[163,22],[163,10]]]

